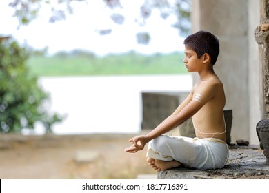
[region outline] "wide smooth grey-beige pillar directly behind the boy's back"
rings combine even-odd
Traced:
[[[208,30],[219,38],[220,54],[214,68],[224,85],[226,109],[233,112],[231,140],[249,140],[248,3],[192,0],[191,19],[192,32]]]

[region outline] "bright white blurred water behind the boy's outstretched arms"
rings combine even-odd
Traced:
[[[50,94],[46,108],[66,116],[54,125],[56,134],[135,133],[141,130],[142,92],[189,92],[192,77],[42,77],[39,83]]]

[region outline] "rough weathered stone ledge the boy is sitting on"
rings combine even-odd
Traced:
[[[158,172],[158,179],[269,179],[269,165],[258,146],[234,146],[227,165],[217,170],[178,167]]]

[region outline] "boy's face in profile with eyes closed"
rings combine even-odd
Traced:
[[[198,59],[196,52],[190,48],[187,48],[186,46],[185,46],[184,53],[185,53],[185,57],[183,59],[183,63],[185,63],[185,66],[188,72],[198,72],[199,67],[203,63],[203,60],[202,60],[203,57]]]

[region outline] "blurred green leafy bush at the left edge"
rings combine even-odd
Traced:
[[[0,41],[0,132],[20,132],[41,121],[47,132],[61,118],[42,107],[48,100],[26,66],[29,52],[16,41]]]

